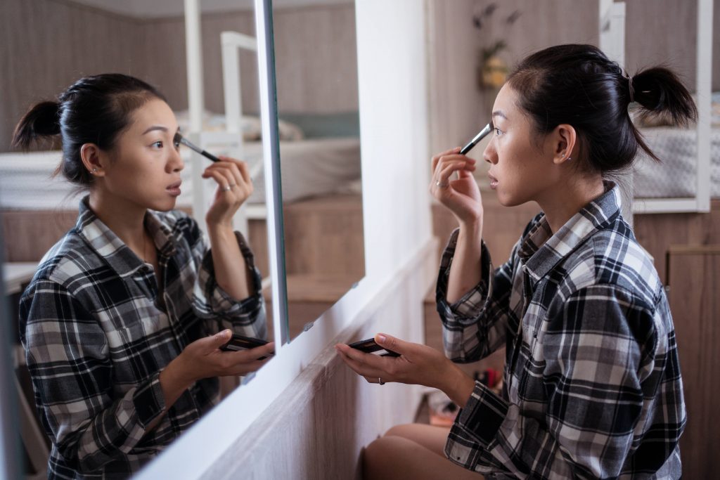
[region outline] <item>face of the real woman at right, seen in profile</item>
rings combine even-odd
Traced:
[[[490,188],[505,207],[538,201],[558,181],[552,142],[536,137],[517,100],[516,91],[505,83],[492,107],[495,132],[482,154],[491,164]]]

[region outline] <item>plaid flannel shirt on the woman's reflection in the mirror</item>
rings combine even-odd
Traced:
[[[20,300],[20,335],[35,403],[53,446],[50,479],[127,478],[219,399],[203,379],[165,409],[160,371],[194,340],[231,328],[266,337],[261,280],[238,235],[256,294],[236,302],[186,214],[148,212],[161,283],[80,202],[78,221],[40,262]]]

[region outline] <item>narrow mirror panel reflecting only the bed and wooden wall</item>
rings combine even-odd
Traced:
[[[365,274],[355,4],[272,2],[292,340]]]

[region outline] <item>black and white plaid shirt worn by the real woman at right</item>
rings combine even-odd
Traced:
[[[444,252],[446,355],[507,348],[503,394],[476,382],[445,447],[487,479],[680,477],[685,404],[665,289],[606,188],[554,235],[539,214],[495,271],[483,244],[483,280],[454,304],[457,231]]]

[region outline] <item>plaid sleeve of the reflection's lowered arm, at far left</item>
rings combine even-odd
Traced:
[[[165,407],[159,371],[117,398],[106,333],[53,281],[31,286],[19,314],[37,409],[68,466],[88,474],[129,453]]]

